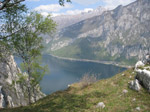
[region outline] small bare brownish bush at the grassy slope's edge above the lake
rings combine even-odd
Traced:
[[[94,82],[97,81],[97,76],[92,74],[89,75],[88,73],[84,74],[83,77],[80,80],[81,88],[85,88],[88,85],[93,84]]]

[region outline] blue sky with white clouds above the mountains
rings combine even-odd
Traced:
[[[65,3],[60,6],[58,0],[25,0],[25,4],[30,10],[35,10],[44,16],[52,14],[57,15],[74,15],[81,12],[96,9],[101,6],[106,9],[114,9],[118,5],[127,5],[135,0],[71,0],[72,3]]]

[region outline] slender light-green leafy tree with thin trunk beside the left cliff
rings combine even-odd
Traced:
[[[41,75],[45,72],[44,68],[42,68],[37,61],[43,48],[42,37],[40,35],[52,33],[55,30],[56,24],[50,16],[44,18],[42,15],[35,12],[24,17],[21,23],[23,24],[21,25],[22,28],[12,35],[10,43],[16,55],[22,58],[24,71],[28,75],[27,93],[30,104],[31,89],[32,87],[35,88],[41,80]]]

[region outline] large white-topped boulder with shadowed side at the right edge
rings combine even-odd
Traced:
[[[136,79],[150,92],[150,71],[138,69],[136,73]]]

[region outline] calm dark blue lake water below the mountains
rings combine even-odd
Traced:
[[[20,60],[15,58],[19,64]],[[98,79],[104,79],[126,70],[126,68],[114,65],[106,65],[94,62],[70,61],[43,56],[43,64],[48,65],[49,73],[41,81],[42,92],[51,94],[64,90],[69,84],[80,81],[85,73],[98,75]]]

